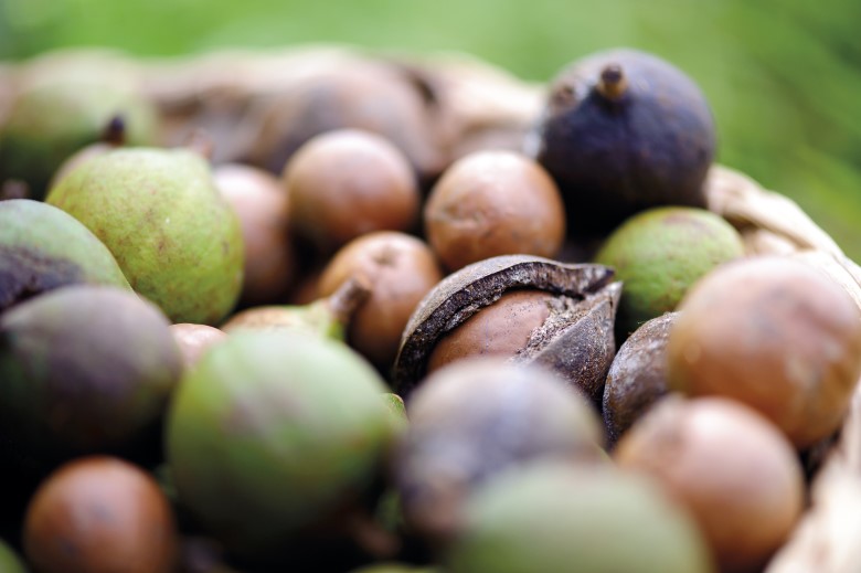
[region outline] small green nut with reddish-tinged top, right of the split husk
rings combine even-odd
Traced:
[[[617,227],[595,255],[623,282],[619,342],[647,320],[676,310],[688,288],[718,265],[744,255],[738,232],[710,211],[665,206]]]

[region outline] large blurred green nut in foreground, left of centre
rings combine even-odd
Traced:
[[[370,485],[396,429],[346,344],[237,332],[183,379],[167,454],[181,502],[232,551],[269,559]]]

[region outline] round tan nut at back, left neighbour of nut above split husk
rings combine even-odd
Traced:
[[[302,145],[284,168],[290,223],[322,252],[373,231],[408,231],[417,222],[416,176],[382,136],[340,129]]]

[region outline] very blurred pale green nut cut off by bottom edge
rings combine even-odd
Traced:
[[[687,514],[635,475],[538,464],[478,491],[445,558],[449,573],[710,573]]]

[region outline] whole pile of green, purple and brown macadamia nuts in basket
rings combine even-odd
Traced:
[[[861,310],[672,64],[442,70],[0,65],[0,571],[765,571]]]

